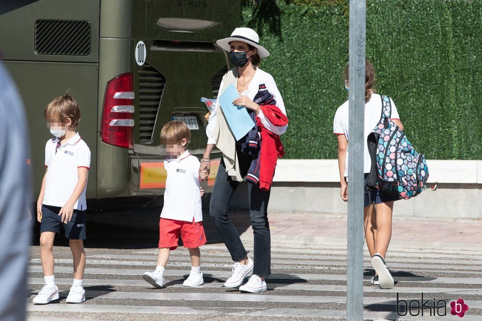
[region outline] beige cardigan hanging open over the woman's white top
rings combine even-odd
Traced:
[[[235,70],[236,69],[236,70]],[[219,94],[223,93],[226,88],[231,84],[236,84],[238,78],[235,73],[238,74],[238,68],[235,67],[229,70],[223,76],[223,88],[219,90]],[[240,167],[238,163],[238,154],[236,153],[236,139],[234,138],[231,129],[226,122],[226,118],[222,113],[221,106],[216,106],[217,121],[212,133],[212,138],[216,140],[216,146],[223,153],[224,165],[226,166],[226,173],[232,180],[242,181],[240,173]]]

